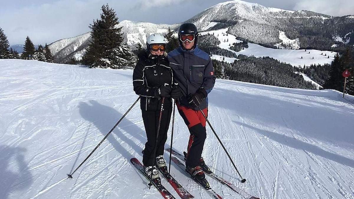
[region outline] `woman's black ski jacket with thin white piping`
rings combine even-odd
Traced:
[[[162,56],[145,55],[138,60],[133,72],[133,87],[140,95],[140,108],[142,110],[156,111],[161,107],[162,98],[159,99],[156,90],[168,84],[173,85],[173,73],[169,67],[166,54]],[[165,98],[164,107],[172,106],[172,99]]]

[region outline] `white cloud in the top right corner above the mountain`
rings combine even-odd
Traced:
[[[294,8],[332,16],[354,15],[353,0],[300,0]]]

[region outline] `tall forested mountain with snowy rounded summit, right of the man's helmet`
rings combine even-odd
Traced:
[[[289,11],[235,0],[212,6],[185,22],[200,29],[228,28],[228,33],[242,40],[267,47],[332,50],[333,45],[354,44],[354,18],[332,17],[306,10]],[[284,39],[298,39],[287,45]],[[339,41],[342,39],[343,41]]]

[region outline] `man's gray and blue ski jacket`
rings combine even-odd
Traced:
[[[173,71],[174,82],[179,84],[182,97],[178,99],[180,105],[199,110],[188,104],[188,98],[198,89],[204,87],[207,93],[213,89],[215,74],[210,56],[200,50],[198,45],[193,50],[184,50],[182,46],[169,52],[170,67]],[[208,98],[201,104],[200,108],[208,106]]]

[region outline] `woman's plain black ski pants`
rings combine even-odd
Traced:
[[[170,126],[172,107],[164,108],[162,111],[160,132],[157,142],[157,149],[155,157],[164,154],[165,143],[167,140],[167,131]],[[147,142],[145,143],[145,149],[143,154],[144,166],[153,166],[156,164],[154,160],[154,148],[156,144],[156,132],[159,125],[160,109],[158,111],[142,110],[142,116],[145,126],[145,132]]]

